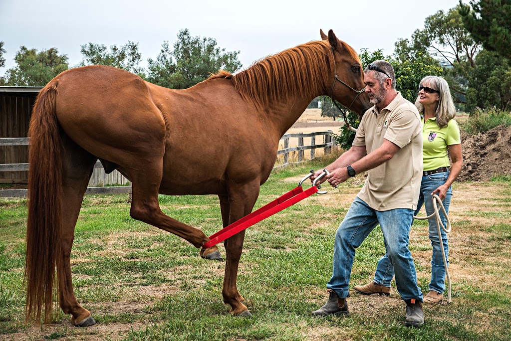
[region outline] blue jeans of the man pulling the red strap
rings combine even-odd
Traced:
[[[355,198],[335,234],[333,274],[327,287],[340,298],[346,298],[355,249],[380,224],[386,255],[396,271],[396,286],[403,300],[422,302],[421,288],[417,286],[415,264],[408,249],[408,234],[413,221],[413,210],[398,208],[377,211],[360,198]]]

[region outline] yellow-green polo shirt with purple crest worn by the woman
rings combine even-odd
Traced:
[[[424,116],[421,116],[424,122]],[[448,145],[460,144],[459,126],[455,119],[451,119],[447,127],[440,128],[436,124],[436,117],[428,118],[422,130],[424,145],[424,170],[433,171],[440,167],[451,165],[448,155]]]

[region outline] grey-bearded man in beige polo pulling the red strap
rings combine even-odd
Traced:
[[[415,106],[396,91],[392,65],[378,60],[364,72],[365,91],[374,107],[362,117],[352,148],[326,167],[330,174],[320,181],[328,180],[336,187],[358,173],[369,172],[335,235],[329,300],[312,314],[348,313],[346,297],[355,249],[380,224],[396,286],[406,302],[405,325],[420,326],[424,324],[423,295],[408,249],[408,233],[423,172],[421,118]]]

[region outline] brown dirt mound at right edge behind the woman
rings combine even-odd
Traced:
[[[511,127],[500,125],[477,135],[461,135],[463,167],[458,181],[511,176]]]

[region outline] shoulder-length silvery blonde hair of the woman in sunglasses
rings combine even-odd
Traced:
[[[435,110],[436,124],[440,128],[447,127],[449,121],[456,116],[456,108],[454,107],[451,91],[449,90],[449,84],[447,84],[447,81],[444,78],[439,76],[426,76],[421,80],[419,84],[424,85],[425,83],[440,91],[438,93],[439,100],[436,104]],[[417,100],[415,101],[415,106],[421,114],[424,113],[424,106],[419,103],[418,96]]]

